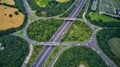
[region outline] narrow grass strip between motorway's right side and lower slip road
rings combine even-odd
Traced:
[[[44,67],[49,67],[49,64],[51,63],[51,61],[53,60],[53,58],[56,56],[56,54],[65,46],[56,46],[55,49],[53,50],[53,52],[50,54],[50,56],[48,57],[47,61],[44,64]]]

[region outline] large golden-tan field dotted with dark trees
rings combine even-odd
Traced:
[[[0,5],[0,30],[19,27],[23,21],[24,15],[18,9]]]

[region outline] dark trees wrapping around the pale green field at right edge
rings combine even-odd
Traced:
[[[97,33],[97,43],[99,47],[105,52],[105,54],[112,59],[118,67],[120,67],[120,59],[112,53],[109,46],[109,40],[111,38],[120,38],[120,28],[103,29]]]

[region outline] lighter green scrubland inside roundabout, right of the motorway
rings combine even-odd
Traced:
[[[92,29],[81,21],[74,21],[70,29],[65,33],[61,41],[84,42],[90,39]]]

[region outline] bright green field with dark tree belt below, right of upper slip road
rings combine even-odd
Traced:
[[[119,27],[120,20],[106,16],[103,14],[98,14],[97,12],[89,12],[87,19],[97,26],[102,27]]]

